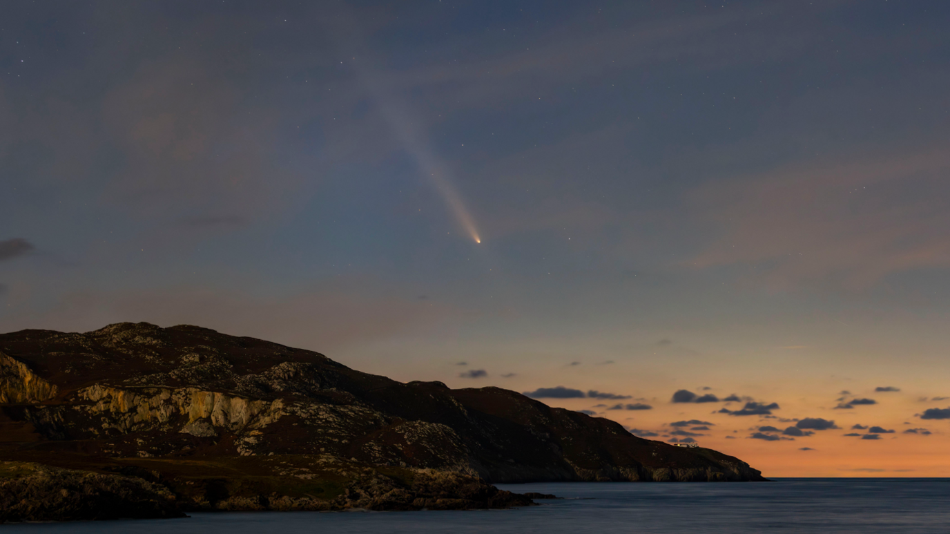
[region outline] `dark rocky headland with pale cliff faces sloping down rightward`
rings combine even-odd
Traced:
[[[303,462],[310,467],[300,468],[310,470],[281,475],[266,458]],[[188,486],[179,484],[188,477],[182,463],[211,462],[218,467],[192,486],[207,486],[208,477],[227,482],[210,493],[195,492],[188,502],[252,509],[346,507],[359,499],[333,499],[347,491],[370,495],[366,487],[387,485],[390,492],[405,492],[392,497],[400,509],[418,507],[412,505],[417,500],[429,507],[440,499],[442,506],[466,501],[447,492],[451,485],[440,486],[441,492],[425,489],[419,481],[434,472],[454,473],[453,484],[483,489],[501,482],[764,480],[731,456],[637,438],[613,421],[550,408],[514,391],[403,384],[319,353],[146,323],[86,334],[0,335],[0,460],[90,472],[139,469],[141,475],[144,469],[158,473],[156,483],[163,472],[178,473],[164,476],[178,481],[166,487],[182,486],[174,490],[179,497]],[[228,462],[237,464],[222,467]],[[328,465],[335,467],[314,467]],[[305,496],[294,497],[297,490],[280,489],[274,480],[248,486],[238,480],[241,469],[294,484],[333,479],[327,487],[336,493],[290,505]],[[304,475],[310,478],[299,478]],[[264,486],[273,495],[262,497]],[[478,499],[456,505],[515,503],[472,491],[466,495]],[[271,505],[281,497],[291,501]]]

